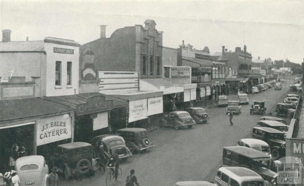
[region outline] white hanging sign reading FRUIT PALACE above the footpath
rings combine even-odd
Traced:
[[[129,101],[129,122],[146,119],[147,117],[147,98]]]

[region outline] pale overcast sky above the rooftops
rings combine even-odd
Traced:
[[[11,40],[43,40],[52,36],[84,44],[124,26],[154,19],[163,31],[163,45],[178,48],[185,40],[210,53],[243,48],[253,60],[304,58],[303,1],[3,1],[0,29],[11,29]]]

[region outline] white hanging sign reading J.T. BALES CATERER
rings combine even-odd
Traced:
[[[37,146],[71,137],[71,117],[65,119],[64,115],[56,115],[37,122]]]

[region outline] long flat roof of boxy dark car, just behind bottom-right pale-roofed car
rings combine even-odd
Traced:
[[[226,146],[224,149],[252,159],[269,158],[269,155],[255,149],[248,148],[246,146]]]

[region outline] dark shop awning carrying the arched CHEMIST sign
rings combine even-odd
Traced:
[[[114,98],[110,95],[105,95],[98,92],[46,98],[50,101],[75,109],[76,115],[103,112],[128,105],[125,100]]]

